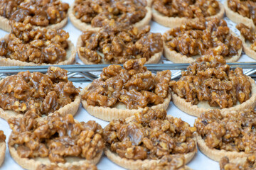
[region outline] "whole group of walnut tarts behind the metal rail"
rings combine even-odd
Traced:
[[[0,27],[11,32],[0,42],[1,65],[72,64],[76,51],[85,64],[123,64],[139,58],[157,63],[162,53],[172,62],[191,63],[208,54],[235,62],[242,47],[249,57],[256,56],[255,25],[250,22],[255,18],[253,1],[229,0],[225,10],[216,0],[77,0],[70,8],[59,0],[0,3]],[[156,11],[166,15],[162,20],[173,27],[164,35],[150,33],[151,16],[161,23]],[[221,19],[224,11],[239,23],[240,38]],[[76,50],[69,34],[56,30],[65,26],[68,13],[74,26],[84,30]],[[241,13],[252,19],[240,18]]]

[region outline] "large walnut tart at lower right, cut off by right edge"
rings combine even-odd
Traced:
[[[252,108],[226,115],[218,110],[202,113],[194,123],[198,148],[218,162],[222,157],[236,159],[255,154],[255,115]]]

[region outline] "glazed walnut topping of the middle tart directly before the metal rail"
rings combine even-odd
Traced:
[[[146,59],[128,60],[105,67],[100,79],[92,81],[82,95],[90,106],[115,107],[124,103],[129,109],[144,108],[164,102],[168,96],[171,72],[152,74],[144,67]]]

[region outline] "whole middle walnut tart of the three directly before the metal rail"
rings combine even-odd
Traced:
[[[105,67],[100,79],[81,92],[85,110],[102,120],[127,118],[143,108],[168,108],[171,100],[169,70],[152,74],[144,67],[146,59],[129,60]]]

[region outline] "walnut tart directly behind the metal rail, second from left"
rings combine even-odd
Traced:
[[[99,31],[87,30],[77,42],[78,56],[85,64],[123,64],[130,59],[146,58],[146,64],[161,59],[161,33],[150,33],[111,20]]]

